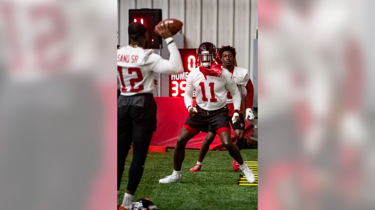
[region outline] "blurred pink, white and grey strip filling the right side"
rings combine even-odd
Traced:
[[[259,209],[374,209],[373,6],[259,2]]]

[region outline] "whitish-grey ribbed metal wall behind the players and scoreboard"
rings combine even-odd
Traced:
[[[118,43],[128,44],[129,9],[162,9],[162,19],[183,22],[184,48],[204,41],[237,50],[237,65],[249,70],[253,80],[253,46],[258,27],[257,0],[118,0]],[[251,25],[252,24],[252,25]]]

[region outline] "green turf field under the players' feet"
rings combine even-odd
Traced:
[[[181,182],[160,184],[159,179],[173,172],[173,152],[149,152],[135,200],[150,198],[159,210],[179,209],[258,209],[258,186],[239,186],[239,174],[232,169],[228,151],[208,151],[200,172],[190,172],[199,150],[186,150],[181,169]],[[243,149],[245,161],[258,161],[258,149]],[[125,163],[118,202],[123,200],[132,150]]]

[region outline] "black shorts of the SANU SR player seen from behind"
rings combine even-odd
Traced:
[[[142,136],[143,132],[156,130],[156,102],[152,94],[118,97],[117,132],[123,130],[127,130],[129,136]],[[129,133],[129,130],[132,130],[132,133]]]

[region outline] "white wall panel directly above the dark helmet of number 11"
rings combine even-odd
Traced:
[[[202,1],[202,42],[217,44],[217,0]]]

